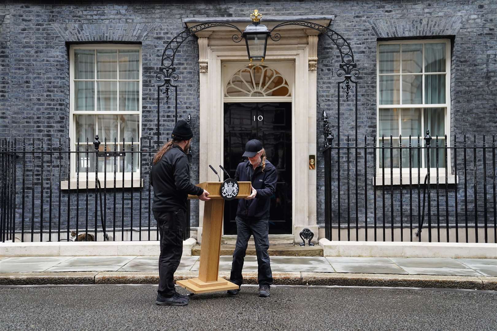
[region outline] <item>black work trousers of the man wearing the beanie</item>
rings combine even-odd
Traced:
[[[178,268],[183,254],[183,231],[186,227],[186,215],[182,209],[170,212],[154,211],[154,217],[161,236],[161,255],[159,256],[159,292],[164,297],[171,297],[174,289],[174,272]]]

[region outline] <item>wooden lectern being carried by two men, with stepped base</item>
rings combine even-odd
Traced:
[[[238,182],[239,191],[236,199],[244,199],[250,195],[250,184],[250,182]],[[222,185],[223,182],[197,184],[198,187],[209,192],[209,198],[211,198],[209,201],[204,202],[204,223],[198,278],[176,281],[176,284],[193,293],[234,290],[239,287],[237,284],[218,276],[221,229],[224,215],[224,199],[221,196]],[[188,199],[198,199],[198,197],[189,195]]]

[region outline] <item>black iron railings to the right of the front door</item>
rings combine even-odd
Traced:
[[[495,135],[327,134],[323,156],[329,240],[497,242]]]

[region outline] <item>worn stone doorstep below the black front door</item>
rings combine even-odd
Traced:
[[[220,255],[233,255],[235,245],[221,245]],[[323,256],[321,246],[299,246],[299,245],[270,245],[267,253],[270,256]],[[248,245],[247,255],[255,256],[255,245]],[[191,255],[200,256],[200,245],[191,249]]]

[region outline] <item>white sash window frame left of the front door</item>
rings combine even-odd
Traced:
[[[70,107],[69,107],[69,112],[70,112],[70,120],[69,120],[69,132],[70,132],[70,137],[71,137],[71,151],[75,152],[76,149],[76,126],[75,126],[75,115],[106,115],[106,114],[111,114],[111,115],[138,115],[139,116],[139,137],[142,136],[142,45],[126,45],[126,44],[88,44],[88,45],[71,45],[70,47],[70,52],[69,52],[69,80],[70,80]],[[118,49],[118,50],[138,50],[139,53],[139,101],[138,101],[138,111],[119,111],[119,97],[117,98],[117,109],[116,111],[75,111],[75,87],[74,87],[74,82],[75,82],[75,74],[74,74],[74,50],[76,49],[90,49],[90,50],[97,50],[97,49]],[[96,52],[95,52],[96,56]],[[95,61],[95,66],[96,66],[96,61]],[[119,72],[119,66],[117,67],[117,70]],[[119,75],[118,75],[119,78]],[[98,81],[99,79],[95,80]],[[109,80],[115,80],[118,82],[117,89],[119,90],[119,79],[102,79],[105,81]],[[121,79],[122,81],[122,79]],[[130,81],[136,81],[135,79],[130,80]],[[95,89],[95,98],[96,98],[97,91]],[[96,105],[96,101],[95,101]],[[98,121],[97,121],[98,122]],[[96,129],[96,128],[95,128]],[[119,130],[119,126],[118,126]],[[98,129],[96,129],[98,132]],[[93,151],[93,138],[94,137],[88,137],[88,151]],[[100,138],[100,146],[104,144],[103,139]],[[111,147],[109,148],[109,151],[112,152],[114,150],[113,148],[113,143],[114,141],[107,141],[107,144],[111,144]],[[122,145],[122,141],[119,142],[117,141],[118,144]],[[128,151],[128,146],[131,146],[131,142],[125,142],[127,148],[126,151]],[[84,144],[80,141],[80,153],[85,153],[86,152],[86,143]],[[134,141],[134,151],[140,150],[140,141]],[[76,180],[77,180],[77,172],[76,172],[76,153],[71,153],[71,189],[76,188]],[[139,154],[135,154],[135,156],[138,156]],[[103,159],[100,160],[99,162],[103,162]],[[122,158],[117,157],[116,159],[117,163],[121,164],[122,167]],[[113,164],[113,160],[112,160]],[[140,176],[140,164],[138,164],[137,169],[133,171],[133,186],[138,187],[142,183],[139,181],[139,176]],[[107,183],[106,187],[113,187],[114,186],[114,172],[109,172],[107,170]],[[102,187],[104,186],[103,184],[103,178],[104,178],[104,173],[99,172],[98,173],[98,178],[102,182]],[[130,187],[131,186],[131,172],[124,172],[124,180],[125,183],[122,183],[122,178],[123,178],[123,172],[119,171],[116,172],[116,187]],[[94,188],[94,182],[95,182],[95,169],[90,169],[88,168],[88,187],[89,188]],[[86,172],[80,172],[80,189],[82,188],[82,183],[84,188],[86,188]],[[67,188],[67,182],[64,182],[62,185],[62,189]]]

